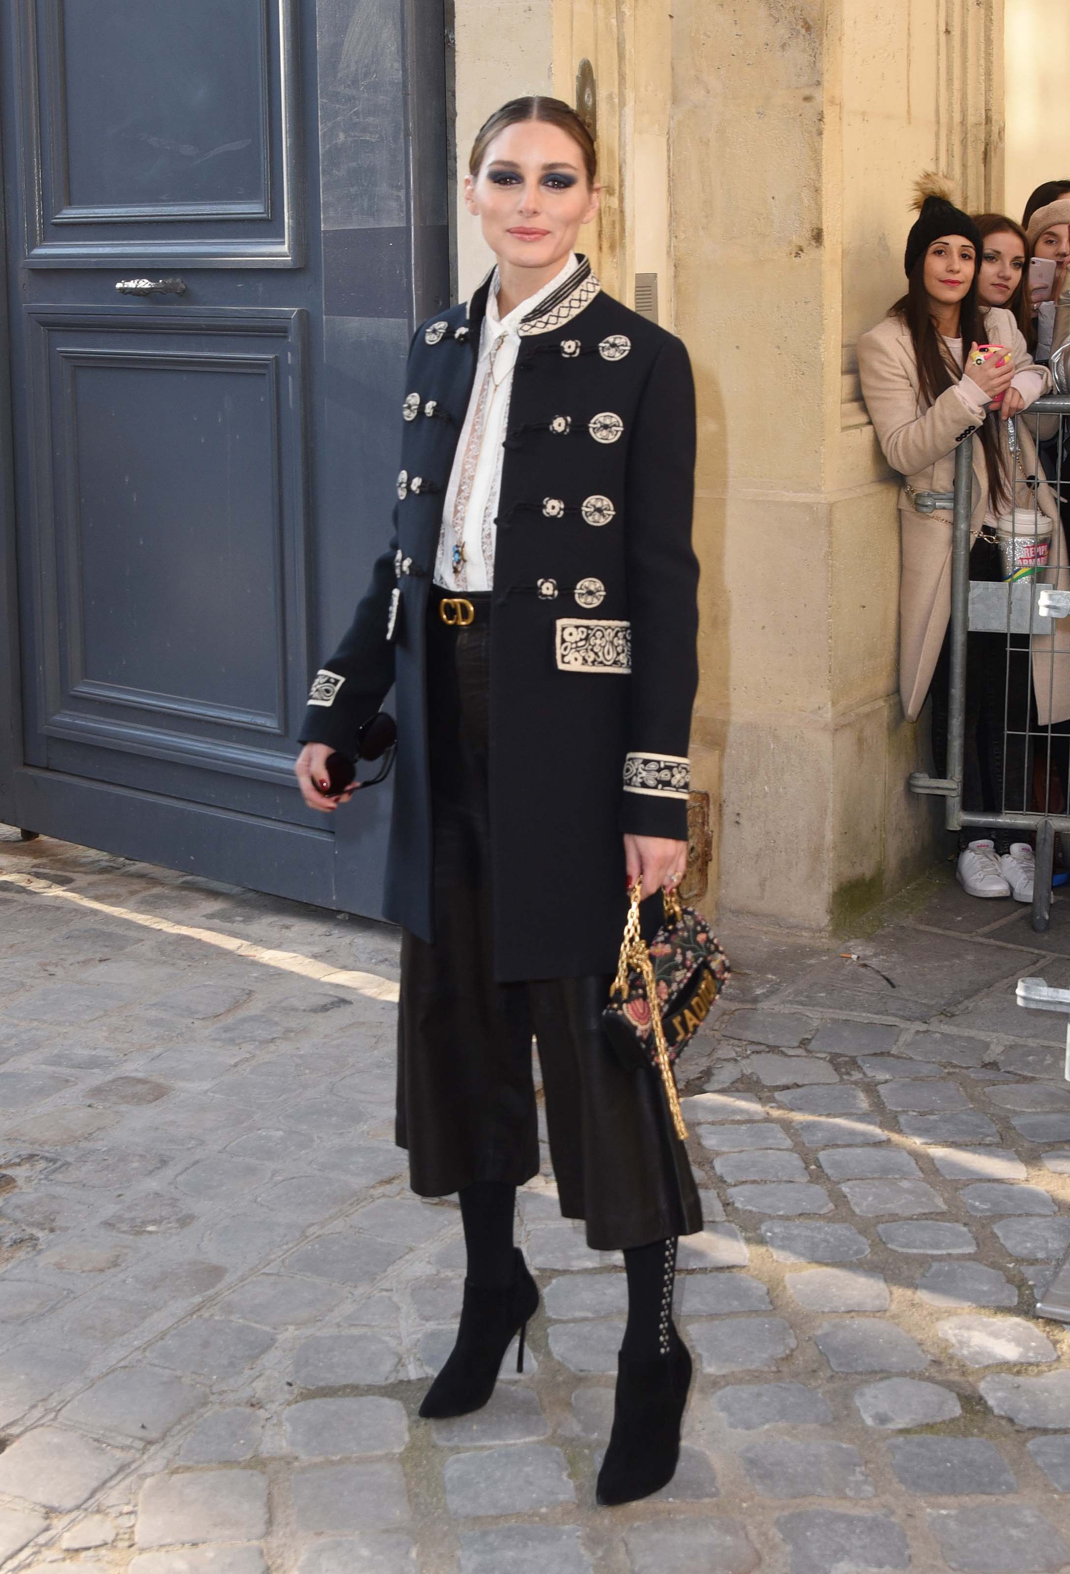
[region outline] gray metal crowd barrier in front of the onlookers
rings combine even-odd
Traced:
[[[1037,719],[1037,694],[1050,694],[1056,682],[1064,682],[1070,693],[1070,395],[1037,400],[1016,416],[1009,444],[1015,497],[1013,524],[1002,548],[1007,578],[972,582],[969,578],[972,442],[960,442],[955,450],[954,493],[919,493],[914,499],[922,513],[950,508],[954,523],[947,767],[943,778],[914,771],[910,787],[944,798],[949,831],[1009,829],[1023,833],[1023,841],[1035,834],[1032,927],[1040,932],[1046,930],[1051,910],[1054,837],[1057,831],[1070,833],[1070,721]],[[1059,518],[1053,521],[1048,562],[1040,568],[1029,563],[1029,548],[1042,535],[1045,513]],[[990,639],[968,647],[969,633]],[[993,685],[1002,677],[1002,727],[991,738],[988,757],[994,765],[987,770],[977,770],[971,759],[968,667],[971,688],[987,683],[990,700]],[[990,807],[965,803],[976,800],[979,789]],[[1065,845],[1070,852],[1070,837]]]

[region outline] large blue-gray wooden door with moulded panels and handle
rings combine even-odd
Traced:
[[[0,47],[0,818],[374,914],[389,789],[305,811],[294,735],[448,297],[442,3],[3,0]]]

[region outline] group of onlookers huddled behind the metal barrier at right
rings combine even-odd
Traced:
[[[903,477],[903,710],[914,719],[932,700],[933,763],[946,778],[952,515],[925,494],[950,494],[955,452],[969,442],[969,578],[1010,590],[974,598],[971,584],[963,804],[991,815],[1061,811],[1070,803],[1070,617],[1039,633],[1028,595],[1024,625],[1010,609],[1031,579],[1070,589],[1070,419],[1013,422],[1042,395],[1070,392],[1070,179],[1039,186],[1021,224],[963,212],[935,176],[919,181],[916,206],[906,293],[858,346],[876,436]],[[993,606],[1009,609],[1005,626],[993,626]],[[958,880],[971,896],[1032,900],[1034,852],[1018,836],[996,823],[960,833]]]

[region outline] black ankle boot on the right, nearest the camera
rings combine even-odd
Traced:
[[[672,1481],[689,1387],[691,1355],[675,1328],[667,1355],[617,1357],[614,1429],[598,1472],[603,1506],[650,1497]]]

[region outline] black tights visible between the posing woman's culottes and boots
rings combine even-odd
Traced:
[[[480,1289],[505,1289],[513,1283],[513,1218],[516,1187],[480,1180],[459,1192],[467,1283]],[[677,1239],[653,1240],[625,1251],[628,1275],[628,1324],[622,1350],[633,1360],[669,1354],[672,1288],[677,1273]]]

